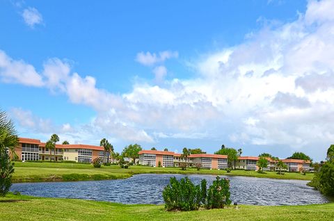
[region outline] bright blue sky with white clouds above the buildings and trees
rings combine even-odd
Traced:
[[[244,156],[334,143],[334,1],[0,0],[21,137]]]

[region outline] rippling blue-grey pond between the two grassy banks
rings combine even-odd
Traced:
[[[38,197],[62,197],[119,202],[122,204],[163,204],[162,190],[170,177],[181,179],[182,174],[139,174],[129,179],[106,181],[14,183],[11,191]],[[213,175],[188,176],[198,184]],[[225,176],[221,176],[225,177]],[[328,202],[317,190],[306,186],[308,181],[263,179],[253,177],[227,177],[230,179],[232,202],[253,205],[303,205]]]

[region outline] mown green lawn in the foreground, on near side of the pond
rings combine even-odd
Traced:
[[[0,197],[0,220],[334,220],[334,203],[232,207],[167,212],[162,205],[124,205],[81,199],[8,195]]]

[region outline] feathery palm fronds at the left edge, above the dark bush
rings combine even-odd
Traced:
[[[17,138],[13,122],[8,119],[5,111],[0,110],[0,149],[6,151],[8,148],[10,156],[17,160],[14,149],[18,142],[19,138]]]

